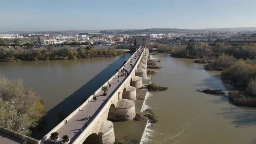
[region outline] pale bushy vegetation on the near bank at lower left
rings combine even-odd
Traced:
[[[21,81],[10,81],[0,75],[0,126],[31,135],[45,115],[43,101],[32,89],[25,89]]]

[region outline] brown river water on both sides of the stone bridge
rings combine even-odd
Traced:
[[[70,113],[129,59],[129,54],[112,58],[66,61],[1,62],[0,73],[9,79],[22,79],[45,102],[48,115],[33,137],[40,139],[59,121],[58,114]],[[152,108],[158,123],[147,126],[141,144],[255,144],[256,109],[237,107],[228,98],[207,95],[197,89],[227,92],[220,72],[205,71],[193,59],[154,55],[162,69],[152,82],[168,89],[148,92],[146,100],[136,101],[136,111]],[[137,96],[144,97],[144,91]],[[138,104],[138,105],[137,105]],[[139,144],[145,121],[115,122],[117,139]]]

